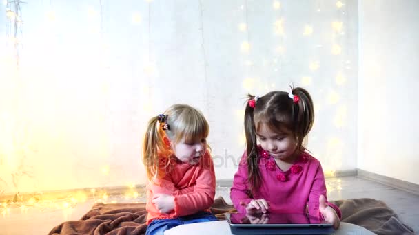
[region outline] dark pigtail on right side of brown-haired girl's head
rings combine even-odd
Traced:
[[[296,124],[296,134],[301,137],[298,141],[298,149],[303,150],[303,142],[310,132],[314,124],[314,104],[309,92],[301,87],[292,88],[292,94],[298,96],[298,100],[294,99],[293,117]]]

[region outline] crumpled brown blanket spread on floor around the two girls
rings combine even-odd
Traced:
[[[342,221],[354,223],[380,234],[413,234],[398,216],[382,201],[375,199],[347,199],[334,201],[342,211]],[[224,213],[236,212],[222,197],[214,201],[211,208],[218,219]],[[79,221],[67,221],[54,227],[50,234],[145,234],[147,225],[145,203],[97,203]]]

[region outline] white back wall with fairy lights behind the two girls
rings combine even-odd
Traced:
[[[0,38],[0,194],[145,183],[145,125],[174,103],[203,111],[216,177],[231,179],[242,98],[291,82],[316,103],[315,157],[326,171],[356,168],[358,3],[275,2],[22,5],[19,71]],[[1,5],[0,34],[12,31]]]

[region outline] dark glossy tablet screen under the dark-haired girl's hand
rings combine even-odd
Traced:
[[[227,220],[231,225],[285,225],[297,227],[301,225],[317,225],[329,227],[332,224],[320,221],[315,216],[307,214],[227,214]]]

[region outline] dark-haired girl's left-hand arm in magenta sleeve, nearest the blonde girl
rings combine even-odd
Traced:
[[[234,208],[239,213],[246,213],[246,205],[252,201],[249,197],[249,188],[247,187],[247,155],[243,154],[238,170],[234,175],[233,186],[230,190],[230,198],[232,199]]]

